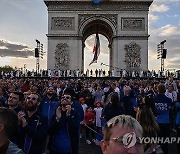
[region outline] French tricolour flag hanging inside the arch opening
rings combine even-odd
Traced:
[[[99,41],[98,33],[96,33],[96,38],[95,38],[95,43],[94,43],[94,48],[93,48],[93,54],[94,54],[94,58],[90,62],[89,66],[92,63],[97,63],[97,60],[98,60],[98,57],[99,57],[99,54],[100,54],[100,41]]]

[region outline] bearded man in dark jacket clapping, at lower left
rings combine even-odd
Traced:
[[[38,113],[40,102],[40,96],[32,93],[26,98],[25,113],[18,113],[20,121],[18,146],[26,154],[42,154],[45,149],[48,120]]]

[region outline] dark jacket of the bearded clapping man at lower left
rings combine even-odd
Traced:
[[[27,126],[20,127],[20,136],[18,140],[18,147],[23,151],[27,142],[30,141],[28,154],[42,154],[45,149],[47,131],[48,131],[48,120],[38,112],[34,113],[30,118],[26,118]]]

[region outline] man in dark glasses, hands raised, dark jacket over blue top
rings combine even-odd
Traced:
[[[80,120],[72,96],[64,93],[49,125],[49,135],[53,136],[50,154],[78,154]]]

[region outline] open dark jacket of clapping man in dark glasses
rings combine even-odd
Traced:
[[[70,147],[72,154],[78,154],[78,144],[79,144],[79,126],[80,126],[80,114],[74,108],[71,109],[70,116],[66,116],[62,112],[59,122],[56,120],[54,115],[49,124],[48,133],[53,136],[53,139],[57,139],[59,130],[67,129],[68,137],[70,140]],[[61,140],[61,138],[59,138]],[[53,143],[53,140],[52,140]],[[54,151],[53,145],[50,146],[50,149]],[[63,149],[62,149],[63,150]],[[56,151],[61,152],[61,151]]]

